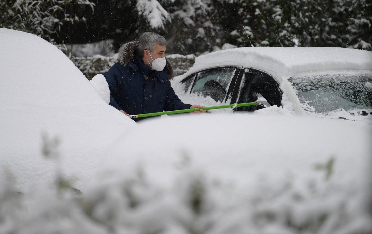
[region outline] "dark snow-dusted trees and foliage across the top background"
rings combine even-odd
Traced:
[[[226,43],[371,50],[371,9],[370,0],[3,0],[0,26],[62,44],[114,39],[115,49],[154,31],[171,54]]]

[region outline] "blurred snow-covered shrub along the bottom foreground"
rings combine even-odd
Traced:
[[[309,165],[311,166],[311,165]],[[165,188],[140,168],[105,174],[84,194],[1,185],[1,233],[371,233],[360,194],[320,176],[261,178],[246,189],[184,166]],[[314,168],[314,170],[316,170]],[[319,171],[319,174],[324,172]]]

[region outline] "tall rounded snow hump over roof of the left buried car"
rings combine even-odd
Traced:
[[[103,103],[60,49],[31,33],[0,29],[0,34],[1,107]]]

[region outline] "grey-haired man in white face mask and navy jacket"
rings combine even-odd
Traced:
[[[173,68],[165,58],[166,45],[163,36],[145,32],[119,49],[119,62],[103,74],[110,105],[125,115],[204,107],[183,103],[170,87]]]

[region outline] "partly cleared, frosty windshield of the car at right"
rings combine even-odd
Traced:
[[[289,79],[298,92],[301,103],[324,113],[344,109],[372,110],[371,75],[320,75]]]

